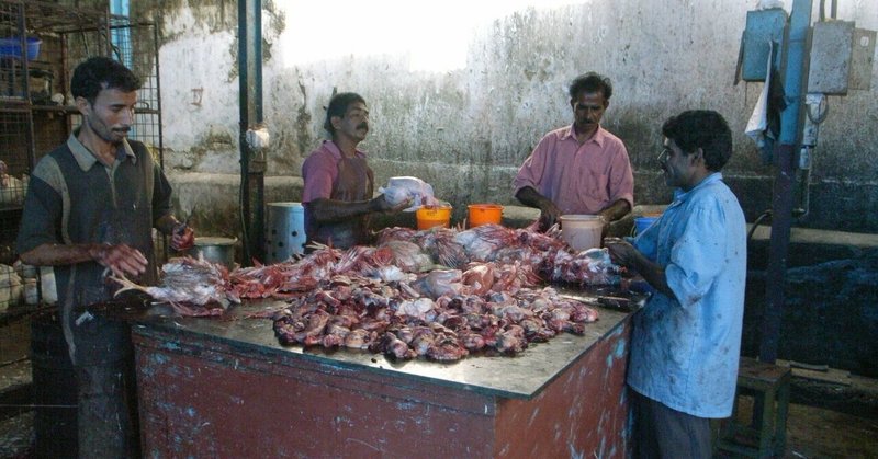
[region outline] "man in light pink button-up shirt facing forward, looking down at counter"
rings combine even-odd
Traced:
[[[518,170],[515,197],[540,209],[540,228],[564,214],[592,214],[605,225],[631,211],[634,175],[622,141],[600,127],[610,104],[609,78],[588,72],[570,85],[573,125],[543,136]]]

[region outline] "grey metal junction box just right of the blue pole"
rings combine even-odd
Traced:
[[[853,22],[829,21],[814,24],[808,71],[809,93],[847,94],[853,42]]]

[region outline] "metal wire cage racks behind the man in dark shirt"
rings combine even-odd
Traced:
[[[92,56],[116,59],[140,78],[130,138],[147,145],[164,162],[153,23],[111,15],[108,9],[0,0],[0,264],[18,259],[14,242],[31,171],[81,123],[70,77]],[[155,239],[157,253],[164,253],[164,238]]]

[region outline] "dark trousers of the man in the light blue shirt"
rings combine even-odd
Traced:
[[[710,420],[693,416],[631,390],[635,459],[709,459]]]

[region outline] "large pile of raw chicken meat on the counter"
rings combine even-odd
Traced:
[[[177,260],[169,264],[180,264]],[[181,269],[164,271],[167,279]],[[210,292],[217,303],[240,298],[289,301],[273,317],[282,344],[434,360],[481,351],[516,354],[559,333],[582,334],[585,323],[597,320],[597,311],[539,286],[620,280],[619,267],[605,249],[572,252],[552,231],[497,225],[465,231],[389,228],[375,246],[323,246],[301,260],[212,278],[217,285]],[[160,288],[155,287],[157,292]],[[198,298],[203,301],[207,290],[201,290]]]

